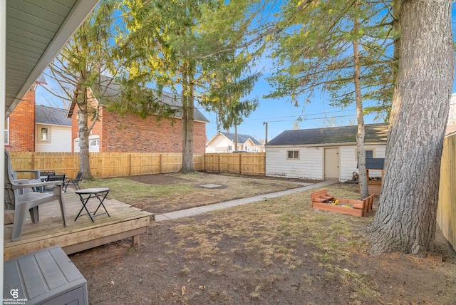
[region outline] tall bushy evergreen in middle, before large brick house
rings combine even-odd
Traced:
[[[181,172],[192,171],[195,105],[219,111],[223,125],[254,108],[247,107],[254,101],[242,101],[259,77],[249,73],[252,55],[242,48],[251,6],[245,0],[135,0],[123,9],[120,57],[131,59],[129,85],[152,83],[182,96]]]

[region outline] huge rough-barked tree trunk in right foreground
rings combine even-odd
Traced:
[[[378,211],[370,253],[434,250],[440,157],[454,72],[450,0],[404,0]]]

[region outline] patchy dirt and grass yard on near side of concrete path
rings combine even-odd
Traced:
[[[313,210],[310,192],[157,222],[136,247],[71,259],[91,304],[456,304],[456,256],[440,232],[427,257],[369,257],[360,229],[373,213]]]

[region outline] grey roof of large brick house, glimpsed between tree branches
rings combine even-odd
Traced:
[[[107,100],[115,100],[116,98],[118,98],[120,92],[122,91],[120,84],[116,83],[115,81],[113,81],[112,78],[109,78],[108,76],[100,76],[100,78],[101,97],[100,100],[98,100],[98,102],[100,104],[103,104]],[[160,100],[160,102],[170,105],[174,109],[182,108],[182,97],[180,95],[174,95],[172,93],[167,92],[162,92],[162,94],[159,95],[159,93],[154,90],[151,90],[151,93],[157,100]],[[74,103],[72,103],[72,105],[70,105],[70,108],[68,109],[69,117],[71,117],[73,113],[74,106]],[[209,123],[209,120],[207,120],[207,118],[197,108],[195,108],[193,113],[194,120]],[[182,118],[182,113],[180,111],[177,111],[177,113],[175,113],[175,118]]]

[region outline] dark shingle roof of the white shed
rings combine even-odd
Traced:
[[[385,143],[388,135],[388,125],[368,124],[364,126],[366,135],[364,143]],[[266,146],[275,145],[328,145],[338,143],[356,143],[357,125],[285,130],[276,138],[270,140]]]

